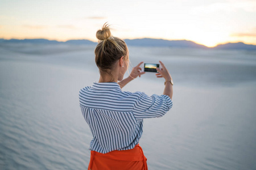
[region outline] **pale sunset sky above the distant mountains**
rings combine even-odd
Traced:
[[[256,45],[256,0],[0,1],[0,39],[96,42],[105,22],[121,39]]]

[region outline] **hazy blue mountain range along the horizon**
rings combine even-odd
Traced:
[[[256,50],[256,45],[244,44],[243,42],[237,43],[226,43],[219,44],[213,48],[207,46],[196,44],[193,41],[188,40],[163,40],[163,39],[125,39],[125,42],[129,46],[167,46],[176,48],[198,48],[198,49],[236,49],[236,50]],[[96,45],[97,42],[90,40],[68,40],[65,42],[47,39],[0,39],[0,44],[2,43],[31,43],[31,44],[73,44],[73,45]]]

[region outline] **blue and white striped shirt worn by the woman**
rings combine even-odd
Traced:
[[[162,117],[172,107],[167,95],[122,91],[118,83],[93,83],[79,92],[80,107],[93,134],[90,150],[129,150],[139,143],[143,119]]]

